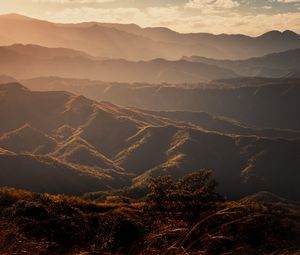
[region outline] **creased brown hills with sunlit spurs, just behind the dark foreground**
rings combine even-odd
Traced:
[[[179,178],[207,168],[230,197],[267,190],[300,198],[299,138],[284,138],[280,131],[277,137],[221,132],[220,123],[228,122],[206,117],[203,123],[218,132],[172,113],[31,91],[18,83],[0,85],[0,185],[83,194],[145,187],[150,176]]]

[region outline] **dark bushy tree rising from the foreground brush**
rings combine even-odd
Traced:
[[[147,196],[151,208],[174,214],[199,214],[218,201],[218,183],[212,171],[200,170],[175,181],[170,176],[151,179]]]

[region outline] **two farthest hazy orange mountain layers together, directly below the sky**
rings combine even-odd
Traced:
[[[137,25],[55,24],[0,16],[1,73],[118,82],[197,83],[241,76],[299,77],[300,36],[181,34]]]

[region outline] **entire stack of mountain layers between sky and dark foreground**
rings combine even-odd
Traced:
[[[0,45],[0,186],[141,191],[212,169],[230,198],[300,199],[298,34],[9,14]]]

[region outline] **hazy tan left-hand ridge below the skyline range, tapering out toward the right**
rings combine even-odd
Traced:
[[[83,52],[36,45],[0,47],[0,68],[2,73],[19,79],[61,76],[118,82],[193,83],[237,77],[226,68],[185,60],[96,59]]]

